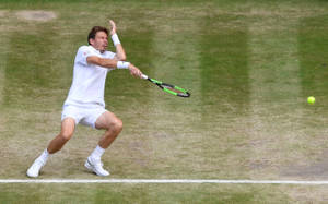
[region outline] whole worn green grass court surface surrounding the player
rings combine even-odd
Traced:
[[[114,19],[128,61],[191,97],[110,72],[105,100],[124,131],[103,157],[109,178],[327,180],[327,9],[319,0],[1,1],[0,179],[26,178],[60,130],[77,49]],[[57,19],[24,21],[20,10]],[[98,179],[83,163],[101,134],[79,127],[40,179]],[[0,184],[0,203],[309,203],[325,202],[326,190]]]

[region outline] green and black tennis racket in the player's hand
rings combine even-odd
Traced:
[[[148,75],[144,75],[144,74],[142,74],[141,77],[144,79],[144,80],[150,81],[153,84],[156,84],[160,88],[162,88],[164,92],[166,92],[168,94],[172,94],[172,95],[175,95],[175,96],[180,96],[180,97],[189,97],[190,96],[189,92],[187,92],[186,89],[180,88],[178,86],[171,85],[171,84],[167,84],[167,83],[163,83],[161,81],[148,77]]]

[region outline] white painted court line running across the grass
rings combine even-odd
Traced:
[[[222,183],[222,184],[311,184],[323,185],[328,181],[296,181],[296,180],[199,180],[199,179],[0,179],[0,183]]]

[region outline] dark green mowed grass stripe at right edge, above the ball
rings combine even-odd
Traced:
[[[302,94],[316,96],[320,110],[327,113],[323,101],[328,95],[328,14],[300,19],[298,57]],[[323,101],[321,101],[323,100]]]

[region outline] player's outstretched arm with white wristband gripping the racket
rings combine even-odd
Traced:
[[[118,61],[115,59],[107,59],[107,58],[99,58],[97,56],[90,56],[86,58],[87,63],[101,65],[103,68],[109,68],[109,69],[129,69],[131,75],[136,77],[141,77],[142,72],[132,63],[125,62],[125,61]]]

